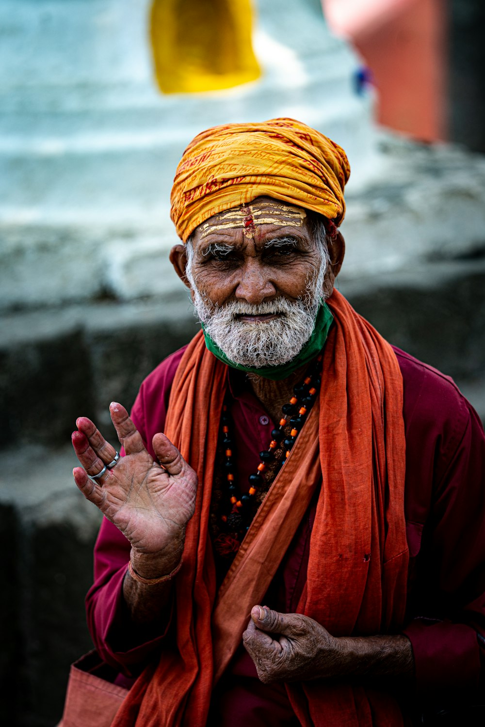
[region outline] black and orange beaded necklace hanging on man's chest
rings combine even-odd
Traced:
[[[272,467],[273,476],[276,476],[286,459],[288,459],[310,409],[316,401],[321,385],[322,360],[323,355],[318,355],[305,379],[294,387],[293,396],[289,403],[282,406],[283,416],[279,421],[278,428],[271,431],[271,441],[268,449],[260,452],[260,464],[257,466],[257,471],[249,475],[249,491],[244,494],[241,494],[237,483],[233,456],[234,440],[231,433],[232,422],[227,400],[224,402],[220,438],[225,457],[223,464],[225,484],[223,484],[223,502],[220,503],[220,513],[217,517],[220,535],[214,542],[215,550],[221,557],[232,559],[236,555],[254,516],[255,497],[262,489],[262,486],[267,484],[265,482],[265,473],[268,470],[268,465],[274,462],[275,454],[280,447],[282,447],[284,454],[279,462],[275,462],[276,468]],[[289,427],[291,429],[289,429],[289,433],[285,437],[285,430],[288,432]],[[231,547],[228,547],[228,542],[231,543]]]

